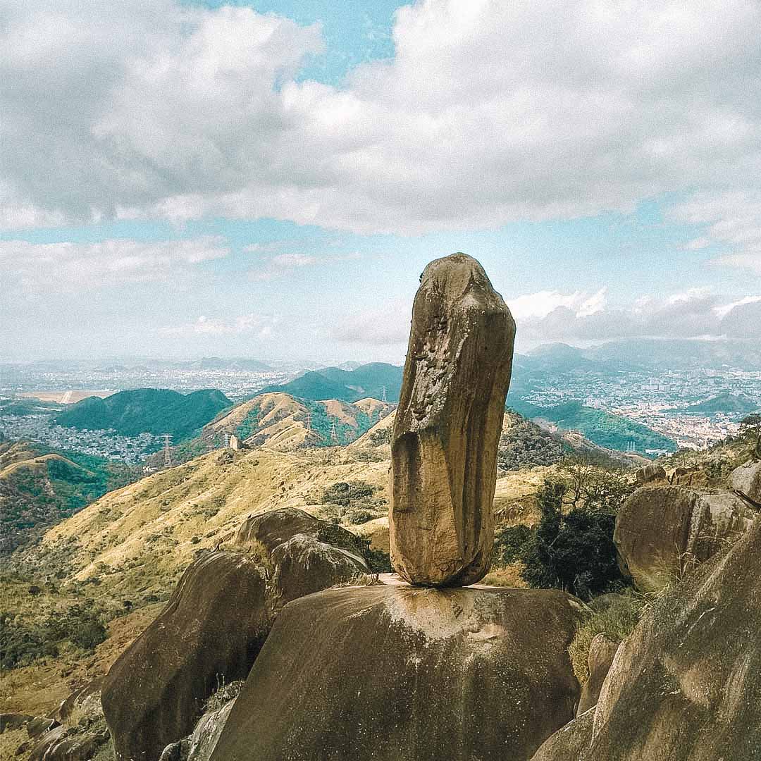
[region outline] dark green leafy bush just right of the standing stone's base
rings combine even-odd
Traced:
[[[524,552],[532,587],[572,592],[582,600],[624,584],[616,559],[616,517],[586,507],[562,511],[566,486],[546,481],[537,495],[541,520]]]

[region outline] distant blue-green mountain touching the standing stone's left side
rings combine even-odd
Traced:
[[[361,365],[355,370],[320,368],[287,384],[268,386],[261,393],[282,392],[299,399],[355,402],[367,396],[382,399],[385,388],[387,401],[397,402],[402,388],[402,372],[403,368],[385,362]]]

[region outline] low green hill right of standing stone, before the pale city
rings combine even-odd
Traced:
[[[665,449],[673,452],[677,444],[647,425],[628,418],[587,407],[580,402],[568,402],[555,407],[537,407],[519,399],[509,402],[510,408],[528,419],[543,419],[555,423],[566,431],[581,431],[585,438],[600,447],[626,451],[629,441],[634,441],[638,452],[645,449]]]

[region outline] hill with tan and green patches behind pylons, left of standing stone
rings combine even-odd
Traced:
[[[354,403],[300,400],[272,391],[217,416],[204,426],[201,438],[218,441],[221,435],[231,434],[252,447],[283,451],[343,445],[355,441],[391,409],[390,404],[371,398]]]

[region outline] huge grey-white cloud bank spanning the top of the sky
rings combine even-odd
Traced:
[[[319,27],[250,8],[0,3],[9,225],[228,215],[416,234],[761,175],[751,0],[425,0],[397,11],[393,59],[342,88],[293,79]]]

